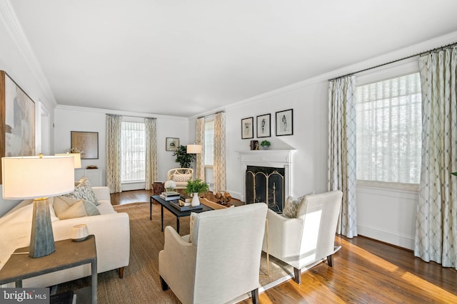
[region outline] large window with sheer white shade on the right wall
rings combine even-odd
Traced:
[[[357,87],[357,179],[418,184],[419,73]]]

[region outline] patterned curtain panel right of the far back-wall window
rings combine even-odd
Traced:
[[[157,168],[156,119],[144,118],[146,126],[146,190],[152,189],[152,183],[159,179]]]

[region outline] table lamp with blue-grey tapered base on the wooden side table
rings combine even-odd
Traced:
[[[34,199],[29,256],[56,251],[49,200],[74,191],[74,157],[2,157],[4,199]]]

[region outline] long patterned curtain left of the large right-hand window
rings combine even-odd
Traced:
[[[357,236],[356,77],[338,78],[328,88],[328,191],[341,190],[337,233]]]

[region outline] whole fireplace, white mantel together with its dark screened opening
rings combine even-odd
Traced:
[[[265,201],[274,211],[282,212],[283,202],[291,195],[293,152],[295,150],[238,151],[241,174],[243,174],[241,201],[246,204]],[[252,173],[248,173],[249,171]],[[258,173],[262,171],[265,172]],[[254,182],[256,186],[259,184],[263,186],[263,190],[258,190],[256,187],[248,189]]]

